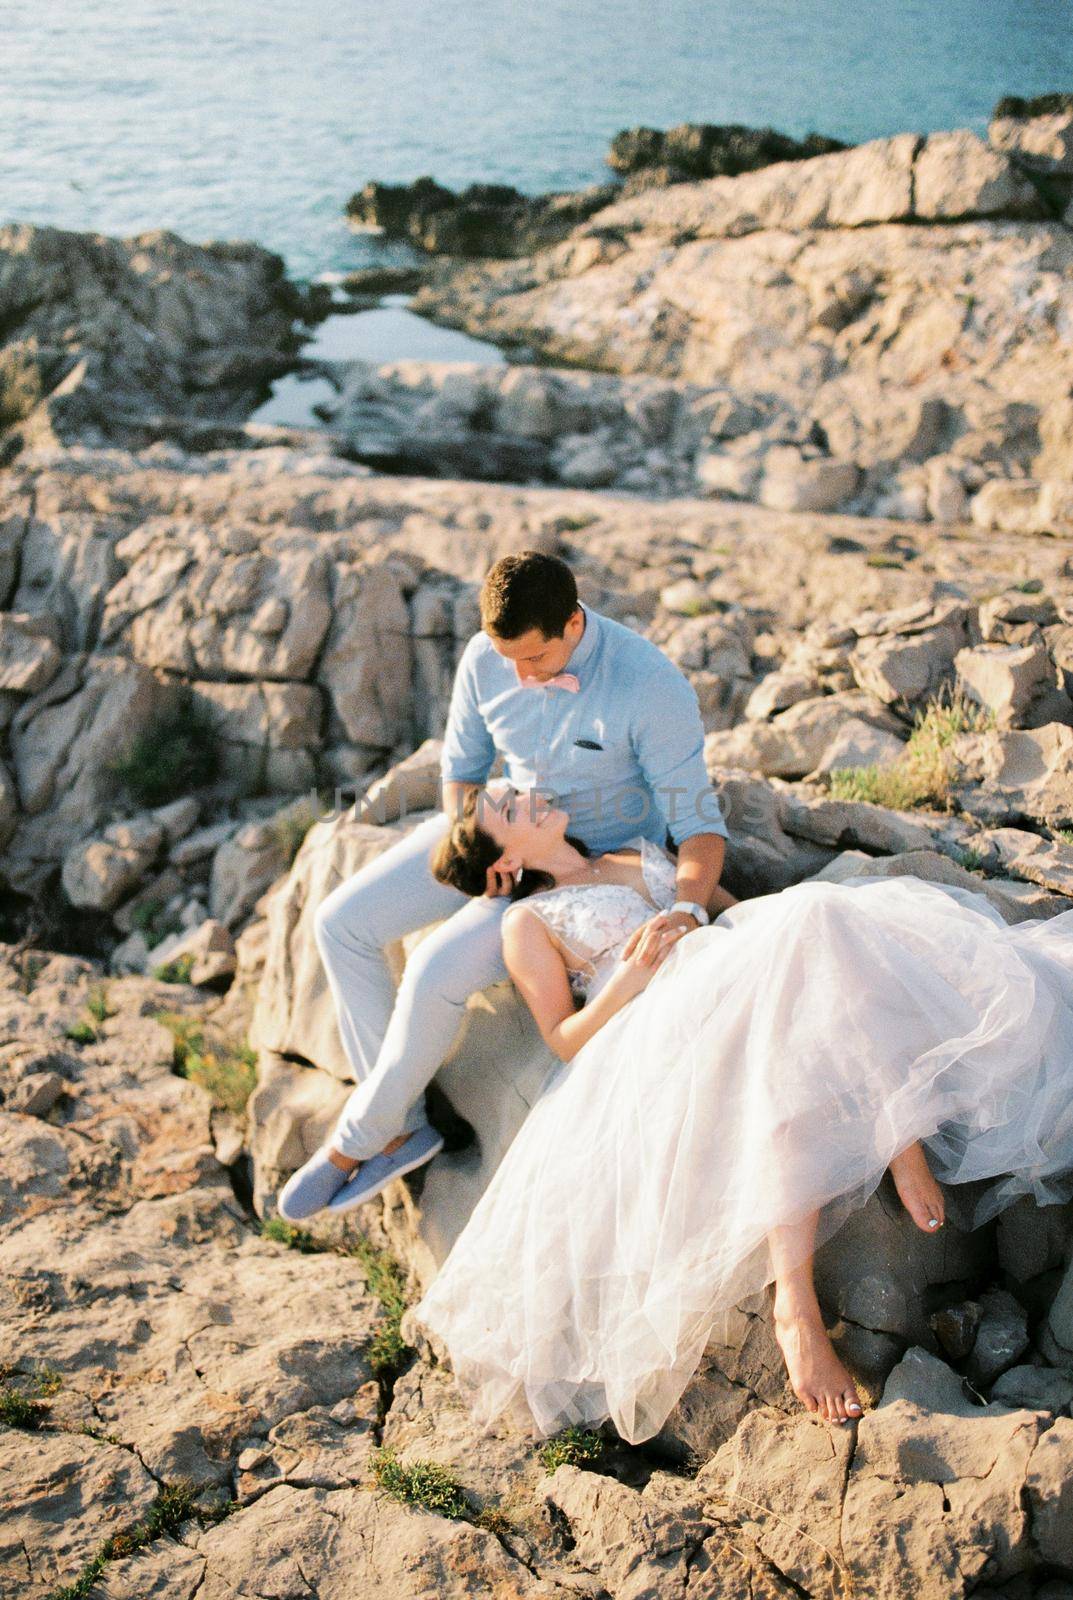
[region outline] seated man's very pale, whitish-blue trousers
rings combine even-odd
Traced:
[[[438,813],[341,883],[313,914],[317,949],[358,1086],[333,1146],[366,1160],[425,1122],[424,1090],[451,1050],[465,1002],[507,978],[501,922],[509,896],[470,899],[438,883],[429,854]],[[406,962],[395,992],[384,947],[445,918]]]

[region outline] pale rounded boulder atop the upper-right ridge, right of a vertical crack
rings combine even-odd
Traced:
[[[959,128],[924,139],[915,165],[913,208],[935,221],[961,216],[1043,218],[1047,210],[1036,187],[1001,149]]]

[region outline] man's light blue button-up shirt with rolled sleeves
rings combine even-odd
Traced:
[[[593,851],[643,834],[675,845],[728,837],[704,765],[704,725],[689,680],[651,640],[582,606],[585,632],[563,672],[579,691],[534,688],[475,634],[462,651],[443,738],[445,782],[483,784],[496,757],[518,789],[569,813]],[[579,742],[580,741],[580,742]]]

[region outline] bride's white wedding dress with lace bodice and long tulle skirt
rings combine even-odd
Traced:
[[[675,898],[670,858],[635,843],[652,904],[609,883],[525,901],[582,995]],[[771,1280],[768,1232],[822,1208],[830,1237],[913,1139],[943,1182],[996,1179],[972,1224],[1070,1197],[1073,912],[1006,926],[913,877],[747,901],[555,1067],[416,1318],[483,1422],[649,1438]]]

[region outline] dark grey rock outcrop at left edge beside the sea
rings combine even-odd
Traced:
[[[0,229],[5,341],[32,366],[42,445],[146,445],[187,419],[240,422],[267,376],[293,363],[305,296],[272,251],[11,222]],[[233,429],[235,430],[235,429]]]

